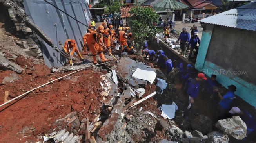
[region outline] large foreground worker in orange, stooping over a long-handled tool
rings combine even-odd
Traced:
[[[94,64],[98,63],[96,59],[97,51],[102,62],[109,61],[108,59],[105,59],[105,56],[103,54],[102,47],[107,48],[102,41],[103,32],[104,27],[100,25],[97,30],[91,32],[91,34],[87,37],[87,45],[89,46],[89,49],[92,52]]]

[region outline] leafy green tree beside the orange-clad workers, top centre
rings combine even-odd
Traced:
[[[154,23],[157,23],[159,15],[151,7],[134,7],[129,13],[131,15],[128,19],[129,27],[131,27],[135,43],[141,47],[144,38],[149,39],[156,35]]]

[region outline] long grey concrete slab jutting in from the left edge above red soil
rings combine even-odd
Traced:
[[[12,63],[0,54],[0,70],[12,70],[16,73],[22,73],[23,68],[21,68],[17,64]]]

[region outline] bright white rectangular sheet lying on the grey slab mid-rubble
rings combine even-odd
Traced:
[[[156,73],[154,71],[142,70],[140,68],[137,68],[132,76],[137,79],[147,80],[151,84],[156,79]]]

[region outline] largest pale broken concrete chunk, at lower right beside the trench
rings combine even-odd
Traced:
[[[239,116],[218,120],[215,126],[223,133],[236,139],[241,140],[246,137],[247,127],[245,122],[243,122]]]

